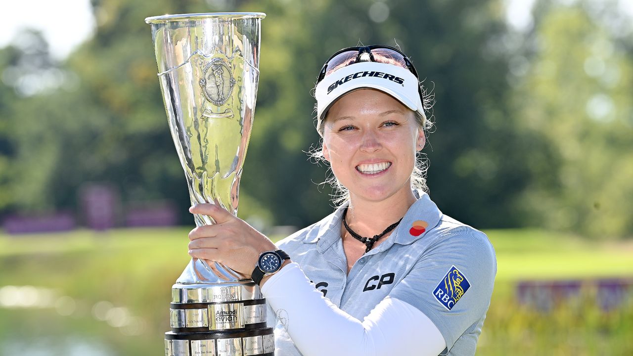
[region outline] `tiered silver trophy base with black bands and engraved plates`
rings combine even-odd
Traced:
[[[176,283],[165,356],[273,356],[266,301],[253,281]]]

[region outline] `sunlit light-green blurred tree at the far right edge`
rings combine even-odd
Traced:
[[[517,130],[538,137],[520,201],[529,224],[586,236],[631,236],[631,35],[615,6],[542,2],[529,70],[515,91]]]

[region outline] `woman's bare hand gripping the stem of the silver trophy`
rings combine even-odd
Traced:
[[[189,255],[220,262],[250,277],[260,253],[277,250],[275,244],[246,221],[215,204],[189,208],[194,214],[209,215],[216,224],[199,226],[189,232]]]

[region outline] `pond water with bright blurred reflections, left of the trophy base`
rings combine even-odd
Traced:
[[[163,354],[159,328],[164,326],[149,327],[150,317],[109,302],[87,303],[34,288],[0,288],[0,356]],[[166,310],[162,314],[167,319]]]

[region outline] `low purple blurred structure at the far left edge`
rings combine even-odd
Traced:
[[[9,215],[4,219],[3,227],[8,234],[69,231],[75,228],[75,218],[70,213],[41,216]]]

